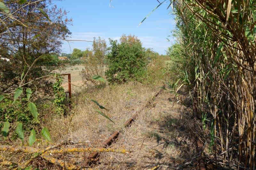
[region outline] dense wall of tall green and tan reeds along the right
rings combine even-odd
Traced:
[[[179,45],[169,50],[180,75],[188,73],[198,105],[212,115],[223,163],[249,169],[256,168],[255,6],[246,0],[176,0]]]

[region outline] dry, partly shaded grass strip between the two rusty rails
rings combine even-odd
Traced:
[[[156,98],[153,108],[145,108],[131,128],[126,129],[111,148],[134,151],[129,155],[103,153],[99,169],[173,169],[195,156],[195,144],[188,133],[179,105],[168,101],[164,92]],[[184,111],[183,111],[184,112]],[[193,169],[196,167],[192,161]]]

